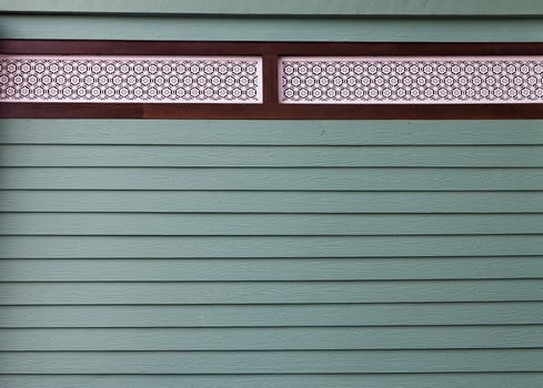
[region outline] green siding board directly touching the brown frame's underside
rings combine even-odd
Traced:
[[[543,145],[540,120],[0,120],[0,144]]]

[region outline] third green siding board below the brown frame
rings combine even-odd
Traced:
[[[541,191],[543,169],[3,167],[3,188]]]

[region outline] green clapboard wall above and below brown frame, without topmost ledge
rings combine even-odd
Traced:
[[[19,12],[4,38],[543,38]],[[0,387],[540,387],[542,214],[542,121],[3,120]]]

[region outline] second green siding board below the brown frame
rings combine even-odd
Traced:
[[[543,146],[0,145],[2,167],[541,167]]]

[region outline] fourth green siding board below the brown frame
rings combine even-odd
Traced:
[[[1,212],[543,213],[543,192],[1,190]]]

